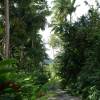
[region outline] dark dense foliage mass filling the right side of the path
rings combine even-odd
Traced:
[[[69,10],[69,6],[64,9],[62,3],[71,0],[55,1],[55,16],[57,12],[64,14]],[[82,95],[83,100],[100,99],[100,12],[96,3],[96,8],[90,6],[88,14],[76,22],[67,20],[69,12],[65,16],[61,14],[61,18],[54,16],[52,22],[54,34],[62,40],[62,49],[55,58],[61,86],[71,93]]]

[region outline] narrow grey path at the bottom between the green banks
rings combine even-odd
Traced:
[[[50,97],[48,100],[81,100],[78,97],[69,96],[65,91],[57,90],[55,97]]]

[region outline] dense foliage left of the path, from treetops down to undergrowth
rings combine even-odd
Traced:
[[[18,100],[35,100],[39,97],[37,94],[40,88],[49,78],[44,67],[44,60],[48,57],[42,36],[39,34],[40,29],[44,30],[46,16],[49,15],[47,2],[45,0],[10,0],[9,9],[9,58],[16,59],[16,64],[13,67],[6,63],[3,70],[0,70],[0,93],[3,97],[0,96],[4,98],[3,100],[14,96],[16,100],[17,97]],[[0,61],[5,60],[5,34],[5,1],[0,0]],[[10,66],[14,68],[14,72],[10,70]],[[3,80],[1,72],[4,74]],[[16,91],[11,95],[10,90],[13,86],[17,88],[17,85],[20,87],[18,96]],[[10,97],[3,92],[9,88],[10,90],[6,93],[9,93]],[[43,93],[40,93],[40,96],[42,95]]]

